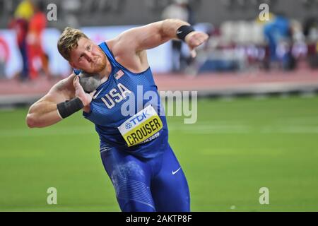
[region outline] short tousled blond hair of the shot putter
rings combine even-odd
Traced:
[[[59,37],[59,41],[57,42],[57,49],[59,49],[59,53],[64,57],[67,61],[71,59],[71,49],[78,47],[78,40],[81,37],[88,37],[81,32],[81,30],[67,27],[62,32]]]

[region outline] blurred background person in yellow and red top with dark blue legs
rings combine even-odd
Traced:
[[[18,49],[22,57],[22,71],[18,74],[22,81],[28,78],[29,67],[28,67],[28,48],[27,48],[27,34],[28,34],[28,23],[30,18],[33,16],[33,3],[30,0],[23,0],[18,4],[14,13],[14,18],[9,24],[9,28],[13,28],[16,31],[16,41]]]

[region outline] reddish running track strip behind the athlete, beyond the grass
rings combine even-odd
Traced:
[[[298,84],[318,87],[318,70],[259,71],[245,73],[204,73],[199,76],[184,74],[155,74],[159,90],[222,90],[254,85]],[[0,95],[44,95],[59,79],[40,77],[35,81],[1,80]]]

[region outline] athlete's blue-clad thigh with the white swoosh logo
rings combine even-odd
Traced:
[[[170,146],[163,153],[160,172],[151,182],[157,211],[190,211],[187,179]]]

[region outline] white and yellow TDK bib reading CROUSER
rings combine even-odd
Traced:
[[[130,117],[118,127],[127,145],[133,146],[143,143],[163,128],[163,122],[151,105]]]

